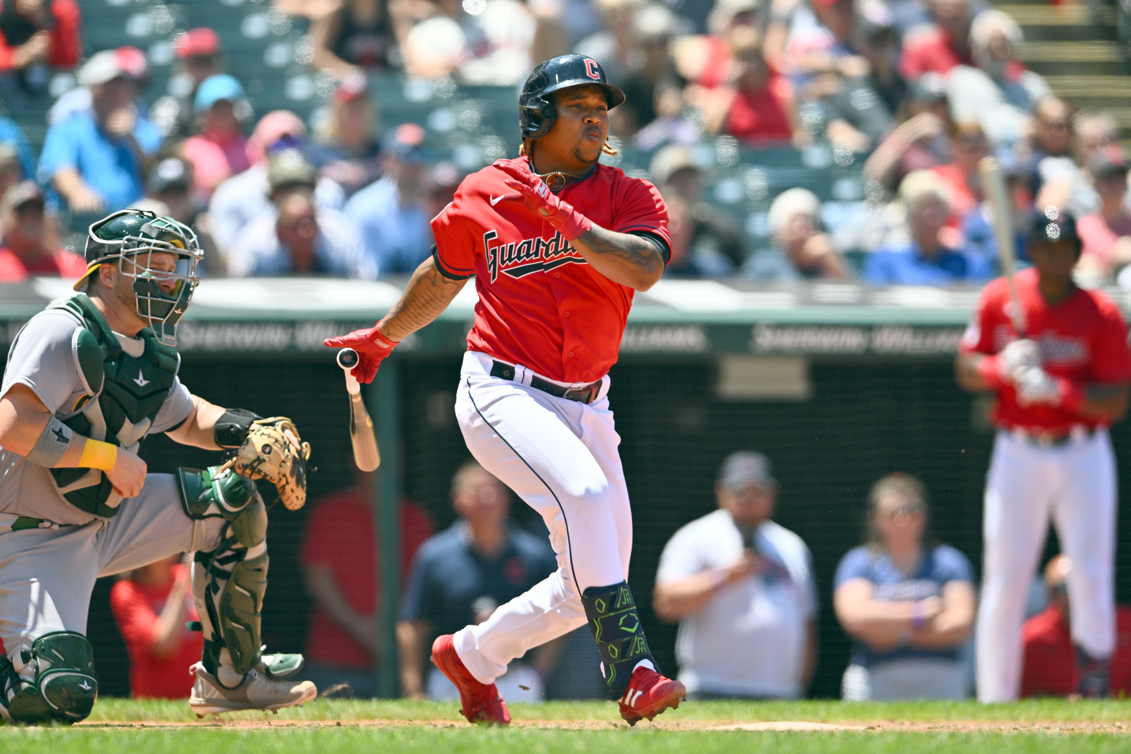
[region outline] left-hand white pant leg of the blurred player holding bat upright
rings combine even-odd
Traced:
[[[1048,529],[1053,475],[1042,451],[1004,432],[986,476],[985,554],[977,619],[977,685],[982,702],[1017,699],[1021,624],[1029,581]]]

